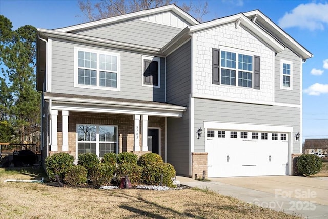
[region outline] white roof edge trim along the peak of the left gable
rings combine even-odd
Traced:
[[[191,15],[189,15],[188,13],[186,13],[185,11],[180,9],[175,4],[171,4],[171,5],[161,6],[158,8],[152,8],[152,9],[132,12],[132,13],[128,13],[128,14],[118,15],[115,17],[110,17],[110,18],[105,18],[105,19],[99,19],[97,21],[73,25],[73,26],[64,27],[64,28],[58,28],[58,29],[54,29],[54,30],[60,31],[60,32],[74,32],[74,31],[79,31],[79,30],[84,30],[84,29],[89,29],[89,28],[95,28],[98,26],[104,26],[104,25],[109,25],[109,24],[113,24],[113,23],[124,22],[124,21],[128,21],[129,19],[138,19],[141,17],[150,16],[153,14],[163,13],[163,12],[167,12],[167,11],[173,11],[174,13],[178,14],[181,18],[185,19],[185,21],[187,23],[189,23],[189,25],[199,24],[199,22],[195,18],[193,18]]]

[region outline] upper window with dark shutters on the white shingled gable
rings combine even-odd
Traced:
[[[260,89],[260,57],[213,49],[213,84]]]

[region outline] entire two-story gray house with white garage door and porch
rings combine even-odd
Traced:
[[[44,157],[152,151],[190,177],[291,174],[312,54],[260,11],[200,24],[168,5],[37,32]]]

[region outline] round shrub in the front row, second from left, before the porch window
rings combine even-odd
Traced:
[[[90,171],[90,180],[95,186],[110,184],[115,166],[108,163],[99,163]]]

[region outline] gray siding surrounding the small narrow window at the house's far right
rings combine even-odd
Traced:
[[[293,90],[280,89],[280,59],[293,62]],[[275,102],[300,104],[301,69],[300,58],[288,48],[275,57]]]

